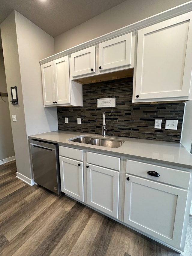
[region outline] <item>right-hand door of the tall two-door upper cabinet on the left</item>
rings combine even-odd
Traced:
[[[69,58],[53,61],[56,104],[70,104]]]

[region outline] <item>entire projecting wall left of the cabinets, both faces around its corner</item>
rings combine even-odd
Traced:
[[[10,87],[17,86],[18,105],[9,104],[17,172],[33,178],[28,135],[57,130],[57,109],[46,109],[42,101],[39,60],[54,54],[54,39],[13,11],[1,23],[1,37],[9,101]]]

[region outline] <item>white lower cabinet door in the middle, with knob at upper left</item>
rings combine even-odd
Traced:
[[[118,218],[119,172],[87,164],[87,203]]]

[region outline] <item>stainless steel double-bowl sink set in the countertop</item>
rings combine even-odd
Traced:
[[[80,136],[75,139],[70,139],[70,141],[85,143],[95,146],[103,146],[108,148],[119,148],[125,142],[124,140],[116,140],[116,139],[109,139],[109,138],[95,138],[95,137],[87,137],[87,136]]]

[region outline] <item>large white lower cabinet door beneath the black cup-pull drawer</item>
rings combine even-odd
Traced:
[[[180,249],[187,194],[126,174],[124,222]]]

